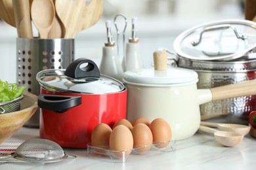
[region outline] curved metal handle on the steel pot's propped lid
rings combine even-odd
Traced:
[[[221,29],[232,29],[234,31],[235,35],[236,35],[236,38],[242,39],[242,40],[247,39],[246,35],[240,35],[238,33],[238,31],[236,31],[236,28],[233,27],[232,25],[230,25],[230,24],[221,24],[221,25],[214,25],[214,26],[210,26],[210,27],[205,27],[203,29],[203,31],[200,33],[200,37],[199,37],[198,41],[193,41],[193,42],[191,42],[191,44],[193,46],[197,46],[202,41],[203,33],[207,32],[207,31],[216,31],[216,30],[221,30]]]

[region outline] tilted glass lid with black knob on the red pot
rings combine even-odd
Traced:
[[[37,81],[43,88],[66,93],[116,93],[125,89],[118,80],[100,75],[98,67],[90,59],[79,58],[65,69],[47,69],[37,73]]]

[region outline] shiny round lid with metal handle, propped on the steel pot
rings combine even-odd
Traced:
[[[256,23],[221,20],[192,27],[174,41],[175,52],[188,59],[229,61],[253,52]]]

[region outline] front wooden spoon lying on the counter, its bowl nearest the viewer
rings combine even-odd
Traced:
[[[218,131],[207,126],[200,126],[199,130],[214,134],[216,141],[224,146],[235,146],[236,144],[241,143],[244,139],[244,135],[232,131]]]

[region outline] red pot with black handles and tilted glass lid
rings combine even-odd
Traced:
[[[127,90],[118,80],[100,75],[96,64],[85,58],[66,70],[37,73],[40,136],[60,146],[86,148],[99,123],[110,126],[126,118]]]

